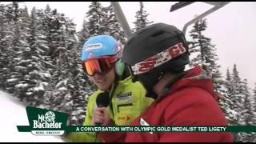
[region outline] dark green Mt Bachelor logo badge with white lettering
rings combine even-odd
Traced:
[[[26,106],[30,126],[17,126],[18,131],[31,131],[34,135],[62,135],[66,127],[67,114]]]

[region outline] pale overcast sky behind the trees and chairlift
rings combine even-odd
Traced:
[[[24,2],[29,10],[33,6],[45,8],[48,3],[51,8],[66,14],[77,24],[77,30],[82,27],[82,20],[86,16],[90,2]],[[150,14],[150,21],[166,22],[177,26],[182,30],[186,22],[194,18],[196,14],[202,14],[212,6],[204,2],[194,2],[180,10],[170,13],[170,6],[175,2],[144,2],[145,10]],[[102,2],[108,6],[110,2]],[[134,15],[139,8],[139,2],[120,2],[130,27],[135,21]],[[237,64],[241,78],[247,78],[250,87],[254,88],[256,82],[256,2],[230,2],[222,9],[206,16],[208,28],[206,37],[212,38],[212,44],[216,45],[218,63],[222,66],[222,74],[226,75],[226,69],[232,70]],[[186,38],[189,39],[189,26]]]

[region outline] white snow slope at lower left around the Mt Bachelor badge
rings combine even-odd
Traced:
[[[60,137],[35,136],[30,132],[18,132],[17,126],[28,126],[25,106],[0,90],[0,142],[63,142]]]

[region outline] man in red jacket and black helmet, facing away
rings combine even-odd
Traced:
[[[135,33],[123,51],[134,80],[142,82],[155,102],[131,123],[134,126],[226,126],[210,77],[200,66],[185,71],[188,44],[175,26],[157,23]],[[103,125],[111,120],[102,113]],[[106,142],[233,142],[230,133],[99,133]]]

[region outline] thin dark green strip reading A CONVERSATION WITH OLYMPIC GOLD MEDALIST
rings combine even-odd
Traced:
[[[256,132],[256,126],[66,126],[68,132]]]

